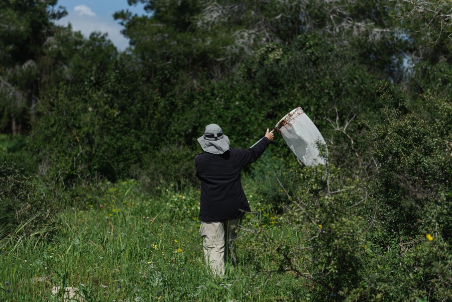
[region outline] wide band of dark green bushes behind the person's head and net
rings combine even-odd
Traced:
[[[177,60],[152,72],[126,59],[93,68],[38,107],[32,149],[41,175],[63,186],[93,175],[139,176],[151,180],[150,186],[182,178],[195,184],[193,157],[201,151],[196,138],[205,125],[219,124],[233,147],[246,148],[298,106],[334,140],[333,148],[345,149],[346,132],[323,117],[375,119],[382,105],[375,78],[351,63],[352,52],[341,51],[320,37],[300,36],[292,45],[265,46],[230,76],[200,77],[196,88],[178,85]],[[347,131],[358,129],[351,125]],[[282,140],[275,145],[278,157],[290,154]],[[345,162],[346,155],[336,158]]]

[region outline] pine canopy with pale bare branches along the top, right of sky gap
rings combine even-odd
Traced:
[[[151,64],[183,56],[180,68],[195,81],[203,68],[213,77],[228,74],[263,45],[291,44],[303,34],[357,47],[363,63],[400,81],[403,56],[413,48],[389,16],[395,5],[387,1],[129,1],[137,3],[148,15],[115,14],[133,52]]]

